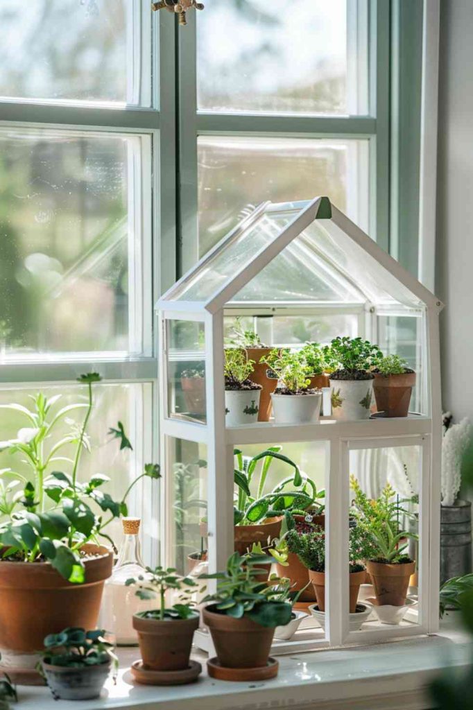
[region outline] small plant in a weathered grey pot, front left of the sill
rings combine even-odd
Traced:
[[[103,629],[65,628],[44,640],[41,667],[55,700],[98,698],[118,658]]]

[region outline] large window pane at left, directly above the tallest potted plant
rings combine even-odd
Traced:
[[[141,351],[132,170],[149,150],[147,141],[0,131],[4,354]]]

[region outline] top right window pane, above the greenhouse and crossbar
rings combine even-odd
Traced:
[[[366,113],[366,18],[354,5],[213,0],[197,18],[198,107]]]

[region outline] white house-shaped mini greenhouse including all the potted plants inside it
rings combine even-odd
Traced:
[[[165,564],[217,594],[271,555],[297,592],[273,657],[435,632],[442,303],[316,197],[260,204],[156,307]]]

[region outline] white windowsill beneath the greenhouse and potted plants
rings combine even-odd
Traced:
[[[116,685],[109,680],[100,699],[75,701],[73,706],[75,710],[342,710],[349,700],[350,710],[420,710],[429,707],[425,687],[438,670],[447,664],[468,665],[467,641],[452,613],[434,636],[279,656],[278,677],[266,682],[210,679],[206,655],[195,654],[203,669],[199,681],[175,687],[134,684],[129,665],[139,651],[127,648],[119,650]],[[21,710],[50,710],[53,705],[47,688],[18,687],[18,699]]]

